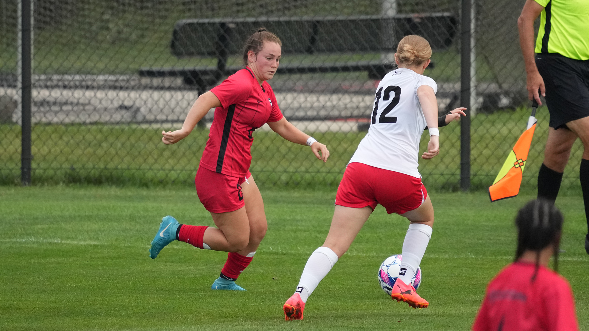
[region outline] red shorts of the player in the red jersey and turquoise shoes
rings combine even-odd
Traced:
[[[249,171],[246,177],[233,177],[198,167],[194,177],[196,194],[204,208],[211,213],[238,210],[246,205],[241,193],[241,184],[250,176],[252,174]]]

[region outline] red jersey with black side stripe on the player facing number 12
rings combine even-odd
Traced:
[[[221,107],[215,108],[200,166],[227,176],[246,176],[252,163],[253,131],[283,117],[276,96],[266,81],[258,84],[249,67],[229,76],[211,92]]]

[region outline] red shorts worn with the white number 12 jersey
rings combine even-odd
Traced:
[[[427,196],[421,178],[354,162],[343,173],[335,204],[352,208],[370,206],[372,210],[382,204],[389,214],[403,214],[421,206]]]

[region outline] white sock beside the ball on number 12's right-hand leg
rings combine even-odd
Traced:
[[[399,278],[403,283],[411,284],[411,280],[417,272],[417,268],[421,263],[423,254],[425,254],[425,249],[428,248],[431,237],[431,226],[419,223],[409,224],[409,229],[403,241],[403,256],[401,260],[401,271],[399,272]]]

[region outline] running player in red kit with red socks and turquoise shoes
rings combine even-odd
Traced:
[[[215,108],[209,140],[196,173],[196,192],[211,213],[215,227],[180,224],[174,217],[162,219],[151,241],[150,256],[174,240],[200,249],[228,251],[220,277],[211,289],[244,290],[235,283],[250,264],[267,229],[264,203],[249,172],[252,133],[265,123],[286,140],[309,145],[317,158],[327,161],[329,151],[309,135],[290,124],[280,112],[276,97],[266,82],[278,68],[282,43],[272,32],[260,28],[246,42],[246,68],[194,102],[180,130],[163,132],[164,144],[186,137],[211,109]]]

